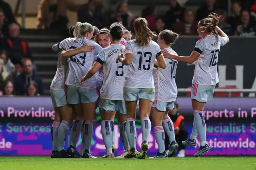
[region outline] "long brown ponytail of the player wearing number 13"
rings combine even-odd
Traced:
[[[145,18],[137,18],[134,22],[136,30],[136,43],[140,46],[149,45],[154,36],[157,36],[148,28],[148,22]]]

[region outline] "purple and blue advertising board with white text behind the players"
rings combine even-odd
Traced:
[[[190,98],[178,98],[179,113],[185,117],[189,134],[192,131],[193,110]],[[206,104],[204,117],[207,142],[211,151],[206,155],[256,155],[256,98],[214,98]],[[50,97],[0,97],[0,155],[50,155],[51,125],[54,110]],[[137,129],[137,149],[142,143],[140,123]],[[186,155],[199,148],[186,147]],[[81,139],[78,139],[80,149]],[[124,148],[115,125],[116,155]],[[148,155],[158,151],[153,127],[148,141]],[[91,146],[93,155],[104,155],[100,122],[94,127]]]

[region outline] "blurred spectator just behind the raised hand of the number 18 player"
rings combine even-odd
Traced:
[[[218,17],[220,17],[218,25],[220,29],[228,36],[232,35],[231,25],[226,23],[226,11],[222,9],[217,9],[215,10],[215,13],[218,15]]]

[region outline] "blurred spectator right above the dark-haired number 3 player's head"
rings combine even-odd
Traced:
[[[119,1],[117,3],[116,12],[122,17],[122,24],[125,28],[130,28],[130,23],[133,18],[133,14],[128,11],[128,4],[125,1]]]

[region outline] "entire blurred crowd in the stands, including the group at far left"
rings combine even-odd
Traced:
[[[137,16],[129,10],[126,1],[118,1],[111,10],[102,0],[89,0],[87,4],[76,4],[72,0],[42,0],[38,8],[38,29],[66,30],[67,11],[77,12],[79,22],[88,22],[98,28],[108,28],[113,22],[122,22],[134,32]],[[210,12],[220,16],[219,27],[234,36],[256,36],[256,0],[240,0],[232,3],[232,15],[218,8],[216,0],[205,0],[197,10],[184,8],[178,0],[170,0],[166,14],[157,12],[156,6],[146,6],[141,16],[146,18],[149,28],[156,33],[170,29],[180,35],[198,35],[198,21]],[[0,96],[44,95],[42,78],[37,75],[32,63],[28,43],[20,38],[20,25],[16,22],[10,5],[0,0]]]

